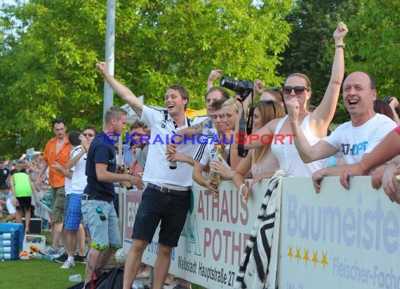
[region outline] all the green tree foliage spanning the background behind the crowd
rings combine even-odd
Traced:
[[[102,121],[107,1],[17,0],[0,11],[0,154],[43,149],[50,123],[69,130]],[[302,72],[312,104],[328,85],[333,31],[346,36],[346,73],[369,72],[380,98],[399,83],[399,1],[383,0],[116,0],[115,75],[150,105],[163,106],[166,88],[189,89],[189,107],[204,107],[211,69],[281,86]],[[217,83],[215,83],[217,84]],[[123,105],[114,98],[115,105]],[[347,121],[342,101],[335,123]],[[15,147],[17,134],[22,144]]]

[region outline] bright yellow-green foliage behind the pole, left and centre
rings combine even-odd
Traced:
[[[189,107],[204,106],[211,69],[230,77],[281,83],[276,65],[288,41],[291,0],[116,0],[115,75],[150,105],[164,105],[166,88],[189,89]],[[104,0],[30,0],[3,6],[0,22],[0,152],[22,134],[18,154],[43,149],[49,123],[69,130],[102,120]],[[122,103],[115,99],[115,105]]]

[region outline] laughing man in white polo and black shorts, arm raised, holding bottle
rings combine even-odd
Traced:
[[[152,131],[142,178],[147,182],[147,187],[143,191],[133,225],[133,243],[126,257],[124,288],[131,288],[140,269],[143,251],[152,241],[156,227],[161,221],[159,250],[154,264],[152,285],[154,289],[161,289],[168,273],[172,248],[178,246],[180,232],[189,210],[193,166],[193,163],[178,163],[177,168],[170,169],[166,160],[166,144],[171,140],[171,136],[179,133],[182,128],[201,123],[208,117],[187,118],[185,109],[189,102],[189,93],[183,86],[170,86],[164,95],[166,109],[156,109],[143,105],[131,90],[116,81],[107,72],[105,62],[99,62],[96,67],[116,94],[132,107]],[[193,156],[198,145],[195,139],[185,140],[178,145],[178,152]]]

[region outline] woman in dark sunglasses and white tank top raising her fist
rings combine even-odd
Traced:
[[[292,99],[300,103],[299,124],[310,144],[314,144],[321,137],[326,136],[328,125],[335,114],[340,86],[345,74],[345,45],[343,39],[346,34],[347,27],[343,22],[340,22],[333,33],[333,38],[335,39],[335,56],[333,58],[331,80],[326,88],[324,98],[314,112],[307,110],[307,102],[312,95],[311,84],[307,76],[300,73],[291,74],[287,77],[283,88],[284,102],[286,104]],[[258,130],[255,135],[258,135],[259,139],[253,140],[251,143],[247,142],[245,149],[253,149],[265,145],[265,141],[264,144],[262,142],[262,135],[271,135],[274,137],[271,145],[272,153],[279,161],[279,168],[284,170],[288,175],[309,177],[314,171],[325,166],[324,160],[312,163],[302,162],[293,142],[291,123],[288,116],[285,116],[283,119],[270,121]]]

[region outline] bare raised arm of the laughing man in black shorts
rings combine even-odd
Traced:
[[[116,79],[114,79],[114,77],[109,74],[105,62],[98,62],[96,64],[96,68],[98,69],[98,72],[100,72],[100,74],[104,77],[105,81],[107,81],[109,86],[111,86],[115,93],[121,98],[121,100],[124,100],[124,102],[128,103],[128,105],[132,107],[133,111],[138,114],[139,117],[141,117],[143,104],[138,98],[136,98],[132,91],[123,84],[116,81]]]

